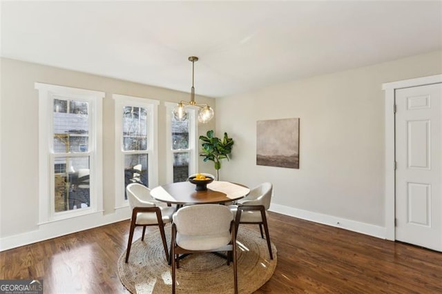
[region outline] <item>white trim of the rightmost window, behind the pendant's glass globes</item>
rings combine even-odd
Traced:
[[[184,152],[184,150],[172,150],[172,115],[173,108],[177,104],[164,102],[166,106],[166,181],[173,182],[173,153]],[[198,121],[196,119],[197,109],[188,106],[186,108],[189,115],[189,174],[197,173],[198,170]]]

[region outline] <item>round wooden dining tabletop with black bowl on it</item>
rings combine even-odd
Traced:
[[[231,182],[213,181],[207,184],[207,190],[195,190],[191,182],[177,182],[157,186],[151,195],[158,201],[170,204],[224,204],[247,196],[250,189]]]

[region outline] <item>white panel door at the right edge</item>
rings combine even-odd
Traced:
[[[396,239],[442,251],[442,84],[396,90]]]

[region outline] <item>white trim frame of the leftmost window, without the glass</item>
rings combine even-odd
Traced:
[[[39,91],[39,224],[89,215],[103,211],[103,130],[102,130],[102,99],[104,92],[70,88],[51,84],[35,83]],[[55,213],[52,210],[54,189],[53,175],[50,175],[52,155],[52,105],[54,96],[81,99],[90,103],[90,207]],[[86,155],[86,154],[84,154]],[[73,155],[75,156],[75,155]]]

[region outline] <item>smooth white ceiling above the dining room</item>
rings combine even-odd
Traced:
[[[223,97],[442,48],[442,1],[12,1],[1,56]]]

